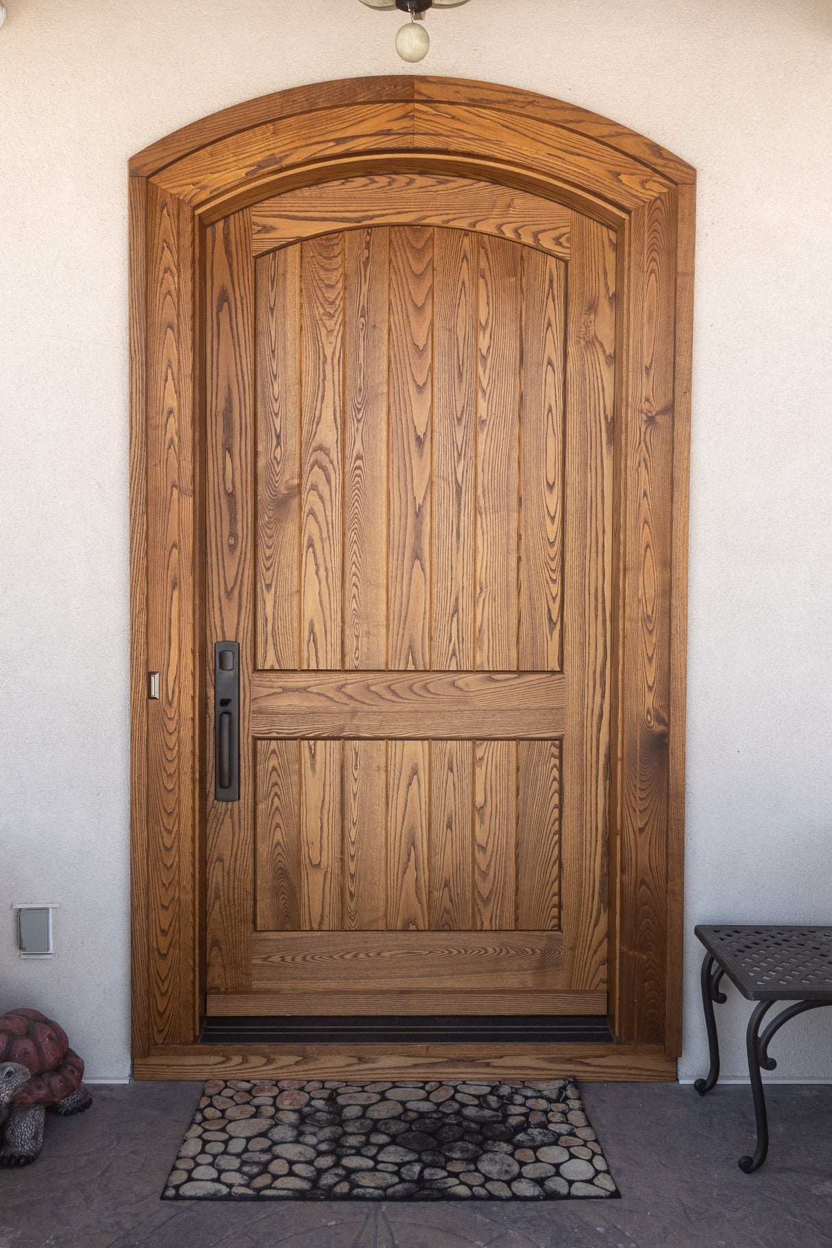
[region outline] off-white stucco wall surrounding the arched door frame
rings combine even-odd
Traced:
[[[126,162],[217,109],[407,72],[358,0],[6,0],[0,30],[0,1010],[128,1063]],[[472,0],[425,72],[605,114],[699,170],[686,930],[832,920],[832,9]],[[21,961],[11,905],[60,902]],[[681,1076],[705,1062],[699,952]],[[723,1011],[742,1075],[746,1010]],[[728,1026],[730,1020],[730,1026]],[[832,1016],[778,1076],[832,1077]]]

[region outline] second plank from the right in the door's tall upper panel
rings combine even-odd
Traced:
[[[518,665],[518,472],[521,248],[479,245],[475,665]]]

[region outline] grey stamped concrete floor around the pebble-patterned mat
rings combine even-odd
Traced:
[[[0,1171],[0,1248],[830,1248],[832,1087],[768,1090],[770,1159],[737,1168],[743,1087],[583,1083],[620,1201],[476,1204],[162,1202],[196,1083],[96,1087],[49,1116],[44,1153]]]

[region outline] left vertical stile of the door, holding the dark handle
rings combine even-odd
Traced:
[[[251,217],[235,212],[206,230],[206,665],[213,709],[213,644],[239,643],[239,801],[213,800],[213,734],[207,748],[207,982],[251,985],[254,866],[253,748],[248,683],[253,663],[254,265]]]

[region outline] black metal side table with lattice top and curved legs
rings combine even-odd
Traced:
[[[773,1071],[777,1062],[768,1046],[783,1023],[807,1010],[832,1006],[832,927],[705,927],[694,929],[707,950],[702,962],[702,1006],[707,1026],[711,1068],[707,1078],[694,1087],[705,1096],[720,1077],[720,1042],[716,1033],[713,1002],[726,1000],[720,992],[723,975],[748,1001],[756,1001],[746,1031],[748,1075],[757,1117],[757,1147],[753,1157],[741,1157],[746,1174],[760,1169],[768,1152],[768,1119],[760,1067]],[[793,1005],[772,1018],[763,1028],[763,1017],[775,1001]]]

